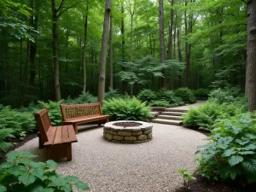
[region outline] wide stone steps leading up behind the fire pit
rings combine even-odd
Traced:
[[[179,108],[166,108],[164,112],[157,115],[156,119],[153,119],[153,123],[168,124],[168,125],[181,125],[181,116],[188,110]]]

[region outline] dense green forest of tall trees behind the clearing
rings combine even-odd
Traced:
[[[2,0],[0,102],[97,96],[104,9],[95,0]],[[106,91],[245,91],[247,2],[116,0],[108,14]]]

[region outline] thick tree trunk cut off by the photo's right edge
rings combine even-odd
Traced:
[[[256,110],[256,1],[247,7],[247,97],[249,112]]]

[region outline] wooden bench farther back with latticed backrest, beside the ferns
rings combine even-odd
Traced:
[[[101,103],[88,103],[76,105],[61,105],[62,122],[64,125],[73,125],[74,131],[78,134],[78,125],[88,122],[108,122],[109,115],[102,114]]]

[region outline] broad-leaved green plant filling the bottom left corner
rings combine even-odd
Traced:
[[[23,151],[12,151],[6,156],[7,162],[0,165],[0,191],[72,192],[73,186],[89,189],[78,177],[57,173],[53,160],[35,162],[31,159],[36,155]]]

